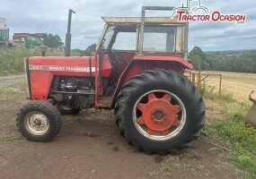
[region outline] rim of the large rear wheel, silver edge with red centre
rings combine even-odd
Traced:
[[[172,139],[186,123],[181,99],[167,90],[151,90],[137,99],[133,122],[137,131],[154,141]]]

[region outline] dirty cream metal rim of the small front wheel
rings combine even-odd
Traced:
[[[49,131],[49,118],[40,112],[31,112],[25,117],[25,128],[33,135],[43,135]]]

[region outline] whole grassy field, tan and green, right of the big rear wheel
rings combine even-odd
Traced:
[[[223,75],[220,100],[217,99],[217,77],[210,77],[203,84],[207,106],[205,129],[223,140],[216,143],[222,143],[229,149],[228,158],[234,161],[238,170],[243,171],[244,178],[256,178],[256,131],[244,122],[252,106],[248,96],[256,90],[256,74],[220,73]],[[256,98],[256,93],[252,96]]]

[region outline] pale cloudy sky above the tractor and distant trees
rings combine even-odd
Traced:
[[[196,1],[196,0],[193,0]],[[73,9],[72,48],[85,49],[96,43],[104,22],[102,16],[140,16],[142,5],[180,6],[186,0],[1,0],[0,17],[6,19],[13,33],[46,32],[65,41],[68,9]],[[190,22],[189,50],[194,46],[204,51],[255,49],[256,1],[202,0],[209,12],[246,14],[245,25],[234,22]],[[195,4],[196,2],[193,2]],[[168,16],[169,13],[146,13]]]

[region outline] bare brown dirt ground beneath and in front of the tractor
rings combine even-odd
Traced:
[[[0,98],[0,178],[241,178],[226,151],[205,142],[216,136],[201,135],[178,154],[149,156],[119,135],[110,111],[64,116],[53,141],[27,141],[15,126],[25,102]]]

